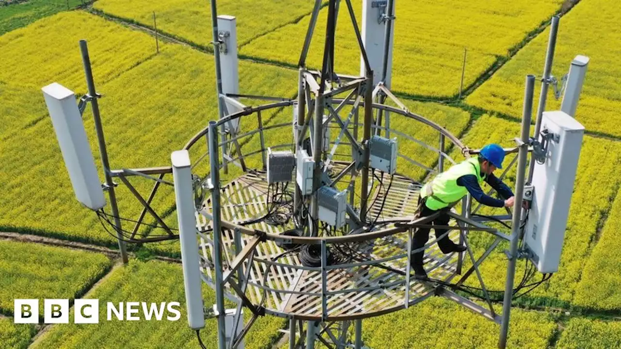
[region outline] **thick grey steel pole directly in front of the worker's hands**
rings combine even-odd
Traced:
[[[519,243],[520,219],[522,218],[522,199],[524,198],[524,178],[526,173],[526,156],[528,155],[528,137],[530,136],[530,117],[533,111],[533,89],[535,88],[535,76],[526,77],[526,89],[524,93],[524,111],[522,112],[522,140],[519,145],[517,160],[517,177],[515,179],[515,205],[513,209],[511,245],[509,250],[509,265],[507,265],[507,280],[505,283],[504,301],[502,302],[501,335],[498,347],[504,349],[507,346],[509,333],[509,315],[511,301],[513,299],[513,281],[515,277],[515,263],[517,262],[517,247]]]

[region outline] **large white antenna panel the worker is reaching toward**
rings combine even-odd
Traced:
[[[535,163],[524,239],[537,270],[554,273],[561,258],[584,126],[565,112],[551,111],[543,113],[541,130],[547,130],[550,138],[545,161]]]

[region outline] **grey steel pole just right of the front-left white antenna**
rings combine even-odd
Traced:
[[[225,327],[224,312],[224,285],[222,284],[222,250],[220,238],[222,237],[222,222],[220,221],[220,166],[218,154],[218,130],[217,122],[209,122],[209,163],[211,165],[211,183],[214,188],[211,191],[211,224],[214,228],[214,270],[215,270],[215,306],[218,310],[218,348],[226,348],[227,332]]]

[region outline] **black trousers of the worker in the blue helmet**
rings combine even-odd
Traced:
[[[434,211],[428,208],[425,205],[425,199],[422,199],[422,201],[419,201],[419,205],[421,205],[420,206],[421,211],[420,211],[419,217],[428,217],[438,212],[438,211]],[[448,215],[449,210],[450,210],[449,208],[439,210],[440,215],[438,215],[438,217],[434,219],[432,222],[428,222],[427,224],[433,223],[433,225],[448,225],[448,221],[451,219],[450,215]],[[430,230],[429,228],[419,228],[416,230],[416,232],[414,233],[414,239],[412,240],[412,251],[425,246],[425,243],[427,243],[427,241],[429,240],[429,230]],[[446,229],[434,228],[433,230],[435,230],[436,238],[439,238],[444,233],[446,233]],[[446,234],[445,237],[440,238],[438,240],[438,247],[440,247],[440,250],[443,253],[452,252],[454,246],[455,246],[455,243],[453,243],[453,241],[451,241],[451,239],[448,238],[448,234]],[[420,252],[412,253],[412,265],[423,265],[424,255],[425,255],[424,250],[421,250]]]

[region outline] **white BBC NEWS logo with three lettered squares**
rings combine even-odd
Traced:
[[[176,321],[181,318],[179,302],[107,302],[106,320],[120,321]],[[15,299],[13,302],[16,324],[39,323],[39,299]],[[99,324],[99,299],[76,299],[73,322],[75,324]],[[166,315],[166,317],[164,316]],[[69,299],[44,299],[43,322],[45,324],[69,323]]]

